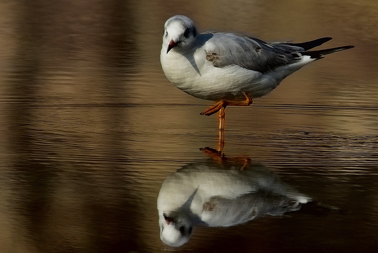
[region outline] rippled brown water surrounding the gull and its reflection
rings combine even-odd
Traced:
[[[0,252],[376,252],[378,2],[2,1]],[[164,179],[217,144],[210,104],[164,77],[164,21],[353,44],[226,109],[225,155],[343,212],[159,237]]]

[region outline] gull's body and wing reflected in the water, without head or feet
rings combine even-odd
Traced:
[[[209,226],[230,226],[265,214],[282,215],[310,200],[283,184],[264,166],[239,169],[237,164],[216,163],[182,167],[161,187],[159,214],[174,212],[176,216],[198,217]]]

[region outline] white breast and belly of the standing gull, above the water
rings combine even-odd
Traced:
[[[237,65],[214,67],[202,51],[182,55],[171,50],[166,54],[163,48],[160,54],[169,81],[194,97],[218,101],[244,98],[242,92],[248,92],[256,98],[268,94],[281,81]]]

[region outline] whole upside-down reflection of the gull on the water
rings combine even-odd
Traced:
[[[263,215],[297,211],[311,202],[248,157],[228,158],[211,148],[201,150],[212,159],[181,167],[161,186],[160,238],[167,245],[185,244],[195,225],[229,227]]]

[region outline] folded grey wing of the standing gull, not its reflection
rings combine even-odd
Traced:
[[[211,33],[206,42],[206,59],[214,67],[238,65],[249,70],[266,73],[276,67],[301,60],[305,50],[288,43],[266,43],[257,38],[231,33]]]

